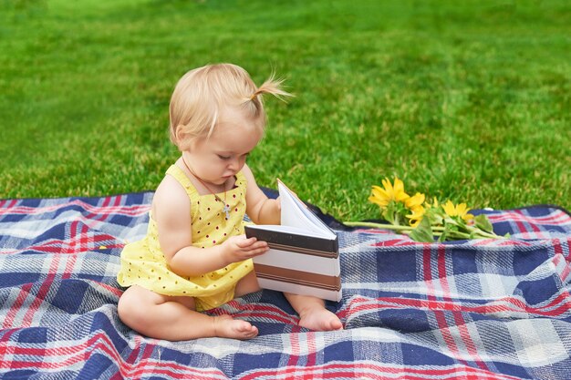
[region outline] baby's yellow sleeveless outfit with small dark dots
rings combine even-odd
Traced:
[[[234,189],[217,194],[230,207],[225,220],[223,202],[213,194],[199,195],[182,169],[172,165],[167,174],[178,180],[191,200],[192,245],[209,248],[230,236],[244,233],[246,180],[242,171],[236,174]],[[121,252],[121,268],[117,280],[121,286],[140,285],[155,293],[194,297],[196,310],[218,307],[234,298],[236,283],[254,269],[252,260],[234,262],[201,276],[182,277],[171,271],[161,252],[157,223],[149,212],[147,235],[141,241],[127,244]]]

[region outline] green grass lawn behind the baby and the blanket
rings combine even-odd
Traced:
[[[571,207],[571,6],[551,1],[0,0],[0,198],[153,190],[177,158],[172,88],[271,70],[249,159],[342,220],[370,186],[472,208]]]

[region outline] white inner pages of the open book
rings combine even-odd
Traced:
[[[292,226],[307,231],[313,231],[318,236],[325,236],[331,239],[335,238],[335,233],[327,227],[317,216],[307,210],[306,205],[297,198],[296,194],[278,180],[277,189],[279,190],[280,200],[282,202],[281,224],[283,226]]]

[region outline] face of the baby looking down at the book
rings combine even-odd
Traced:
[[[244,167],[248,154],[262,139],[262,132],[242,112],[224,109],[210,139],[196,139],[183,152],[193,174],[213,185],[226,180]]]

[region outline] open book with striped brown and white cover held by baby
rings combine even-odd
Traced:
[[[267,241],[270,250],[254,257],[261,288],[341,300],[337,234],[296,194],[277,182],[281,225],[246,225],[247,237]]]

